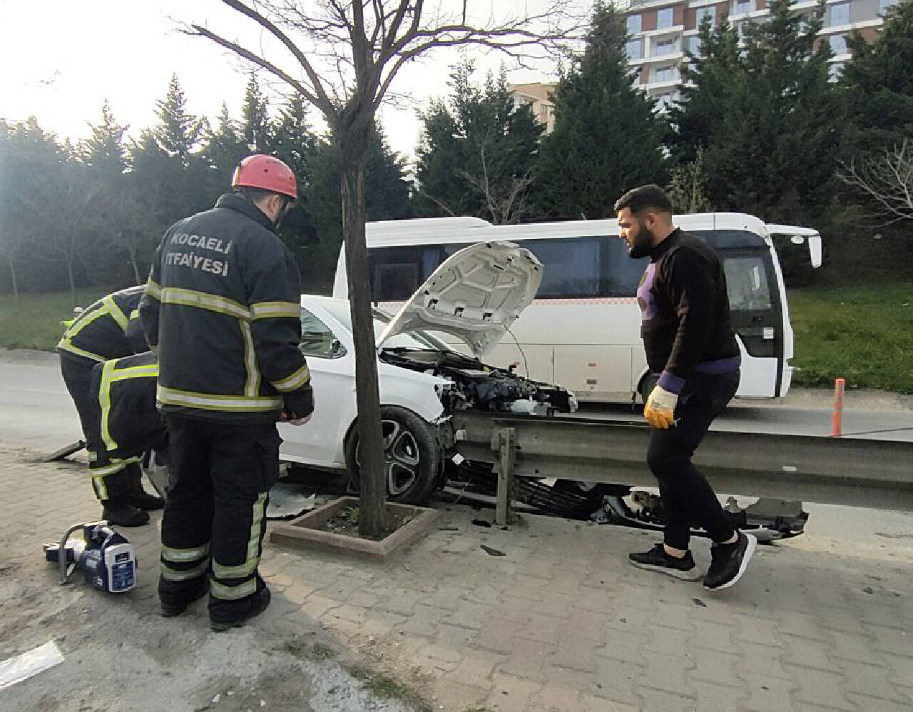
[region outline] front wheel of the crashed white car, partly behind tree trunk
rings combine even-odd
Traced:
[[[387,498],[403,504],[423,504],[441,474],[441,445],[431,425],[397,405],[381,406],[383,468]],[[352,424],[345,443],[345,462],[352,486],[359,488],[358,424]]]

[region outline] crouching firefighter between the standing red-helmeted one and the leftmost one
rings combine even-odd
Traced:
[[[118,470],[121,463],[137,463],[147,450],[166,451],[168,431],[155,405],[158,376],[152,351],[92,369],[89,435],[95,450],[89,454],[89,470],[99,480],[96,487],[115,501],[130,495],[129,481],[117,475],[124,472]],[[108,471],[115,474],[105,476]]]

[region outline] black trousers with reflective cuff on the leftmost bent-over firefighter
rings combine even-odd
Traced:
[[[99,407],[92,403],[92,369],[95,361],[60,355],[60,372],[67,385],[70,398],[76,405],[79,414],[79,425],[89,451],[89,475],[92,477],[92,489],[102,502],[124,502],[130,496],[131,481],[137,483],[142,478],[142,468],[132,459],[122,463],[97,463],[99,444],[95,442],[92,420],[98,419]]]

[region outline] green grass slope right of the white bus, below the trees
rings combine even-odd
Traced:
[[[794,385],[913,393],[913,282],[789,293]]]

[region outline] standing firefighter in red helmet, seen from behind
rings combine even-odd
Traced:
[[[162,614],[208,592],[215,631],[269,604],[257,565],[278,478],[276,423],[304,424],[313,410],[299,272],[276,235],[297,197],[295,175],[258,154],[231,185],[212,210],[167,230],[140,303],[169,434]]]

